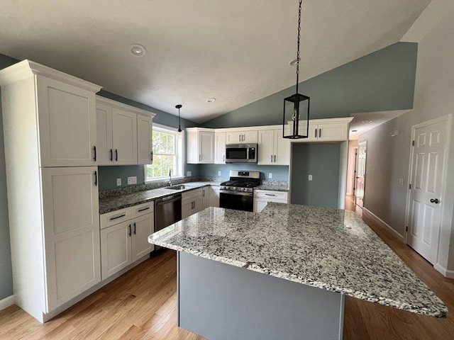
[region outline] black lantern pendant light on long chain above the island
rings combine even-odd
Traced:
[[[284,98],[284,120],[282,137],[296,140],[309,136],[309,103],[310,98],[298,93],[299,81],[299,45],[301,40],[301,2],[298,9],[298,43],[297,43],[297,93]],[[287,125],[289,124],[289,125]]]

